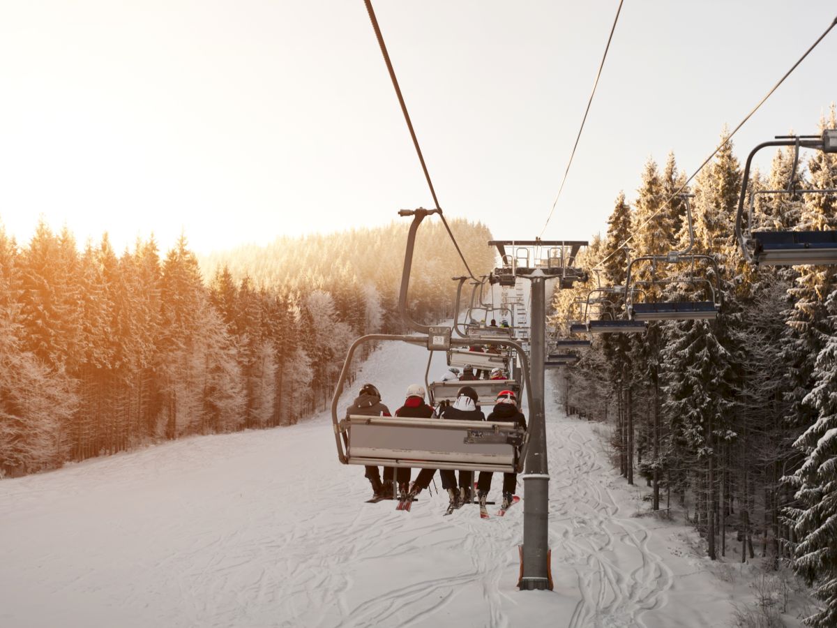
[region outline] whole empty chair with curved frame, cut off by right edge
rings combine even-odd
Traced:
[[[766,190],[763,193],[787,194],[791,198],[804,194],[834,194],[837,188],[798,189],[795,173],[799,149],[837,152],[837,130],[828,129],[821,136],[776,136],[773,142],[763,142],[753,148],[744,166],[738,211],[735,219],[735,235],[744,259],[759,265],[835,265],[837,264],[837,231],[758,230],[753,228],[753,204],[755,194],[750,195],[750,210],[744,224],[744,200],[750,183],[750,167],[755,154],[766,147],[793,147],[793,168],[786,190]]]

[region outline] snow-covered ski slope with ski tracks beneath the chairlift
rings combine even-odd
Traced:
[[[353,388],[394,410],[425,361],[382,347]],[[321,414],[0,481],[0,626],[728,625],[730,586],[687,528],[632,516],[594,426],[547,383],[552,592],[516,589],[522,502],[489,521],[435,494],[363,503]]]

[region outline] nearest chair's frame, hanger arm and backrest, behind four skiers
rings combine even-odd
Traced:
[[[431,327],[413,321],[407,312],[407,294],[416,232],[422,220],[439,210],[419,208],[401,210],[402,216],[413,216],[404,255],[398,311],[405,325],[419,335],[396,336],[368,334],[352,342],[343,363],[336,389],[331,398],[331,421],[334,428],[337,457],[342,464],[364,466],[397,466],[465,471],[521,471],[526,460],[528,435],[516,425],[501,421],[457,421],[444,419],[412,419],[349,415],[338,416],[352,358],[366,342],[407,342],[426,346],[432,358],[435,351],[467,347],[472,339],[452,338],[450,327]],[[493,342],[485,339],[485,342]],[[529,360],[523,347],[513,340],[504,344],[516,352],[521,364],[521,387],[529,379]],[[430,360],[428,361],[428,368]],[[425,383],[427,375],[425,373]],[[533,400],[527,394],[529,407]]]

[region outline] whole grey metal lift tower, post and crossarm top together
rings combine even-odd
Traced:
[[[523,478],[523,546],[518,588],[552,589],[549,570],[549,469],[547,425],[544,414],[546,368],[547,281],[557,280],[559,290],[587,281],[587,273],[575,267],[576,256],[588,243],[582,240],[490,240],[502,265],[494,270],[501,286],[514,286],[518,277],[531,282],[531,399],[529,447]],[[509,247],[506,249],[506,247]]]

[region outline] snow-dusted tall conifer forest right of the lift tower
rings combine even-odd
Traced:
[[[834,106],[819,128],[837,128]],[[788,188],[794,166],[798,188],[837,188],[833,154],[811,152],[794,164],[788,149],[776,152],[768,173],[755,172],[749,191]],[[589,291],[624,286],[629,260],[640,255],[686,248],[686,199],[665,203],[685,181],[671,153],[662,172],[646,163],[634,208],[619,194],[606,237],[585,254],[598,272],[556,292],[558,329],[582,316],[587,301],[593,318],[624,317],[624,290],[588,299]],[[720,316],[594,337],[558,383],[567,409],[614,425],[616,463],[630,483],[641,477],[652,487],[652,510],[685,509],[711,559],[727,553],[734,534],[742,561],[757,553],[777,568],[787,561],[816,584],[824,607],[808,623],[824,628],[837,625],[837,272],[747,265],[733,236],[741,185],[727,142],[689,190],[692,252],[714,256],[720,276],[706,264],[631,271],[648,301],[703,301],[711,281]],[[833,193],[757,199],[757,227],[837,229]]]

